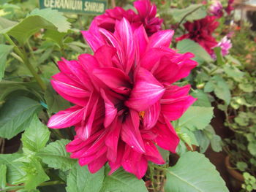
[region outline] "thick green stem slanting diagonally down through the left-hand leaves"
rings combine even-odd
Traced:
[[[23,63],[28,67],[31,74],[33,74],[33,76],[37,80],[37,83],[39,84],[40,88],[42,88],[42,91],[45,91],[46,85],[42,81],[39,74],[37,74],[37,72],[34,70],[34,67],[30,64],[29,58],[27,57],[25,50],[20,50],[20,48],[17,45],[15,45],[15,42],[13,42],[12,39],[7,34],[4,34],[4,37],[7,39],[8,42],[10,42],[10,45],[13,46],[15,53],[17,53],[20,56],[20,58],[22,58]]]

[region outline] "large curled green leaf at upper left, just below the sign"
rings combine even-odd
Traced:
[[[1,30],[1,34],[9,34],[23,45],[32,34],[40,28],[67,32],[70,28],[67,18],[53,9],[34,9],[25,19],[15,26]]]

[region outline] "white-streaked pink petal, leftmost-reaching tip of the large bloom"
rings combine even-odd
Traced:
[[[67,110],[57,112],[56,115],[50,117],[48,127],[50,128],[66,128],[74,126],[83,118],[83,107],[74,106]]]

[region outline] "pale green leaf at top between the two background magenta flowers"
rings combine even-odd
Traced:
[[[173,16],[173,19],[180,22],[182,18],[186,17],[186,20],[198,20],[205,18],[207,13],[203,4],[190,4],[185,9],[170,9],[168,12]]]

